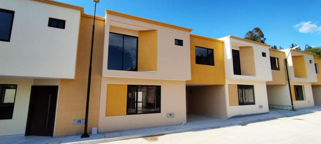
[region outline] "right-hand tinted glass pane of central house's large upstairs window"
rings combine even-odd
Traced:
[[[124,36],[123,70],[137,71],[137,38]]]

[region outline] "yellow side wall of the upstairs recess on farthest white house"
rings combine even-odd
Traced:
[[[296,78],[308,77],[303,55],[292,56],[292,63],[293,63],[293,69],[294,69],[294,77]]]

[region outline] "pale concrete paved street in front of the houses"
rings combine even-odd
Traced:
[[[321,111],[218,129],[120,140],[105,144],[135,143],[315,143],[321,142]]]

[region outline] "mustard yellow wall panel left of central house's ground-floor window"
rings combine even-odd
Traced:
[[[127,85],[107,84],[106,116],[126,115]]]

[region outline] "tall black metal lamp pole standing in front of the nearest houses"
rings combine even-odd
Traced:
[[[89,61],[89,72],[88,72],[88,86],[87,86],[87,101],[86,101],[86,116],[85,116],[85,129],[81,138],[89,138],[87,133],[88,126],[88,111],[89,111],[89,95],[90,95],[90,82],[91,82],[91,61],[92,61],[92,49],[94,46],[94,33],[95,33],[95,17],[96,17],[96,2],[95,2],[95,12],[94,12],[94,24],[92,25],[92,35],[91,35],[91,49],[90,49],[90,61]]]

